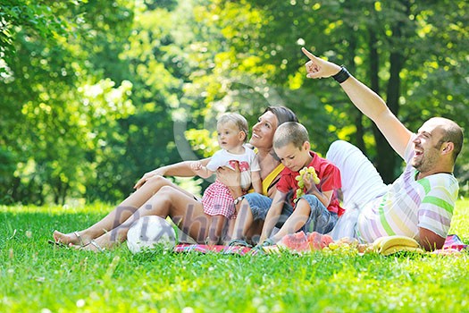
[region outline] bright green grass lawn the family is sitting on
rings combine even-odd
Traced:
[[[110,207],[0,207],[1,312],[467,312],[469,254],[132,255],[56,249]],[[469,242],[469,200],[450,233]],[[16,232],[15,232],[16,230]]]

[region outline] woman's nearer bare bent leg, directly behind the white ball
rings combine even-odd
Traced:
[[[143,188],[143,187],[142,187]],[[163,188],[149,199],[143,206],[133,213],[127,220],[113,228],[111,232],[96,238],[96,243],[102,248],[112,248],[127,239],[130,225],[142,216],[170,216],[184,233],[188,233],[197,242],[205,242],[208,235],[210,216],[206,216],[202,203],[198,202],[187,192],[182,192],[171,186]],[[85,250],[96,250],[88,245]]]

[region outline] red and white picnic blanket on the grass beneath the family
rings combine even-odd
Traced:
[[[267,253],[276,252],[276,247],[264,247],[264,251]],[[462,250],[469,250],[467,244],[465,244],[456,234],[449,234],[440,250],[433,251],[436,254],[450,254],[453,252],[459,252]],[[252,253],[251,248],[239,247],[239,246],[223,246],[223,245],[206,245],[206,244],[188,244],[181,243],[174,247],[174,252],[198,252],[198,253],[222,253],[222,254],[238,254],[241,256],[247,253]],[[257,252],[257,250],[255,250]],[[450,252],[450,253],[448,253]]]

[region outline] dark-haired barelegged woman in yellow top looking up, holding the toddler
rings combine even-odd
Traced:
[[[281,123],[297,122],[297,116],[284,106],[269,106],[253,127],[249,142],[257,149],[263,193],[273,197],[272,188],[280,179],[283,169],[272,149],[273,133]],[[202,160],[206,165],[209,159]],[[163,178],[170,176],[193,176],[192,161],[167,165],[146,173],[134,186],[136,191],[125,199],[101,221],[89,228],[73,233],[54,231],[54,240],[79,245],[83,250],[102,250],[125,241],[130,225],[142,216],[170,216],[184,233],[197,242],[204,242],[208,235],[210,216],[205,215],[202,203],[186,190]],[[230,187],[233,199],[242,196],[239,171],[219,169],[218,179]],[[235,203],[237,201],[235,200]]]

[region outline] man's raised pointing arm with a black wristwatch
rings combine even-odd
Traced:
[[[341,81],[340,86],[353,104],[378,126],[398,155],[404,157],[412,132],[407,130],[396,115],[390,112],[384,100],[372,89],[349,75],[345,68],[313,55],[306,48],[302,48],[302,51],[309,58],[306,63],[306,77],[315,79],[334,76]]]

